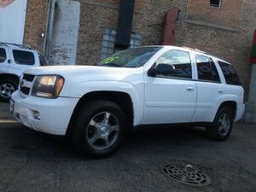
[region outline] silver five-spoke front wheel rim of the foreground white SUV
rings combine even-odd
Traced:
[[[110,112],[97,113],[86,128],[91,148],[104,150],[113,146],[119,137],[119,120]]]

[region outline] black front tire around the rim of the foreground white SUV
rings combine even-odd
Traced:
[[[87,125],[90,123],[90,120],[97,114],[101,112],[110,112],[113,113],[119,120],[120,130],[119,137],[116,142],[107,149],[96,150],[92,148],[86,139]],[[127,123],[125,119],[125,113],[117,104],[114,102],[108,101],[95,101],[90,102],[85,105],[84,108],[80,109],[79,117],[75,120],[74,126],[72,128],[72,141],[74,147],[79,150],[80,154],[85,156],[90,156],[94,158],[108,157],[113,154],[119,145],[124,141],[125,136],[127,135]]]

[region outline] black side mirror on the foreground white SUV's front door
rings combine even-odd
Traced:
[[[160,63],[157,67],[150,68],[148,70],[149,77],[155,77],[157,75],[172,75],[175,73],[175,67],[172,64]]]

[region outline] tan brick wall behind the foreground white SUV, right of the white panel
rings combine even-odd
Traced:
[[[81,0],[77,63],[91,65],[99,59],[103,27],[116,29],[119,0]],[[254,0],[222,0],[221,9],[205,0],[136,0],[133,31],[143,35],[143,45],[160,44],[162,20],[172,7],[180,9],[175,45],[201,49],[223,57],[236,67],[248,93],[248,62],[256,28]]]

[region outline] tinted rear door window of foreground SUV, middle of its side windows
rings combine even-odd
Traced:
[[[218,70],[211,58],[204,55],[195,55],[195,61],[199,80],[220,83]]]

